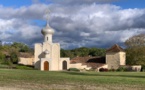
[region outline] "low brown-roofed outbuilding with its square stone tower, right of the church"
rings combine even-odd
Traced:
[[[118,69],[126,65],[126,52],[117,44],[106,50],[106,56],[76,57],[71,60],[70,68],[78,69]]]

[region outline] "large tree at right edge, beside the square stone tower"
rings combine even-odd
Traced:
[[[125,41],[126,63],[145,66],[145,34],[132,36]]]

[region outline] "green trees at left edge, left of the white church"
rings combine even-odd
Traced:
[[[17,64],[20,52],[33,53],[33,49],[24,43],[18,42],[11,45],[0,45],[0,64]]]

